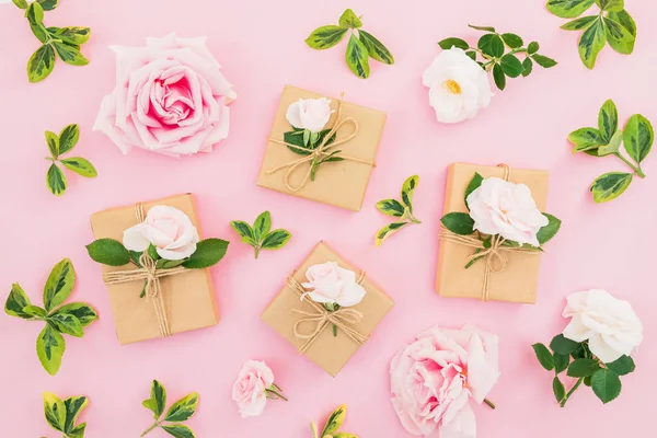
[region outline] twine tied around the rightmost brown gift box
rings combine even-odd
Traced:
[[[498,168],[504,169],[504,181],[510,181],[511,178],[511,168],[508,164],[498,164]],[[453,232],[442,228],[439,233],[439,239],[446,242],[457,243],[459,245],[469,246],[475,249],[475,253],[468,257],[468,265],[473,263],[474,261],[485,257],[484,265],[484,285],[482,288],[482,301],[489,301],[491,299],[491,276],[492,274],[499,274],[506,269],[508,264],[508,258],[506,256],[507,253],[528,253],[528,254],[538,254],[538,252],[517,247],[517,246],[507,246],[504,245],[506,239],[502,235],[497,234],[491,239],[491,246],[484,246],[484,242],[481,239],[477,239],[472,235],[459,235]]]

